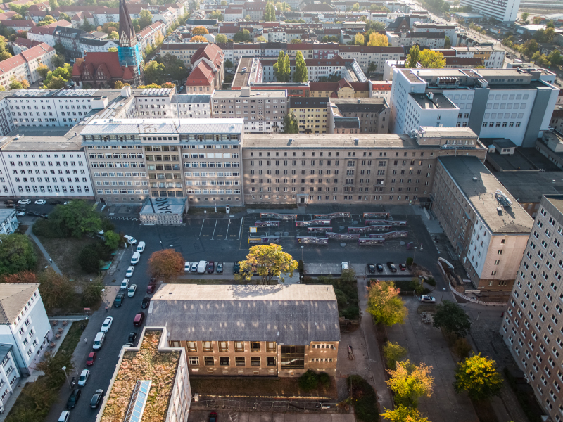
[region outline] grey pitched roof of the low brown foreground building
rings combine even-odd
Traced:
[[[166,326],[171,340],[339,341],[332,286],[163,284],[147,325]]]

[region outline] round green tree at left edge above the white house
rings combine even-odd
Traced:
[[[0,274],[14,274],[35,267],[37,256],[27,236],[0,234],[0,241]]]

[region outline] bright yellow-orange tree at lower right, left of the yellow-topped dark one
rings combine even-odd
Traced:
[[[417,407],[420,397],[430,397],[434,383],[431,371],[432,366],[426,366],[424,362],[411,364],[408,359],[398,362],[397,369],[387,369],[391,378],[385,382],[395,393],[396,404]]]

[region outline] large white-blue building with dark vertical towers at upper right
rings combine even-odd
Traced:
[[[559,94],[550,80],[543,69],[396,69],[389,129],[470,127],[480,138],[531,147],[548,130]]]

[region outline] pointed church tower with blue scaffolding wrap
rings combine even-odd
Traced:
[[[143,56],[137,44],[137,34],[133,27],[129,8],[125,0],[119,1],[119,64],[129,66],[137,86],[143,84]]]

